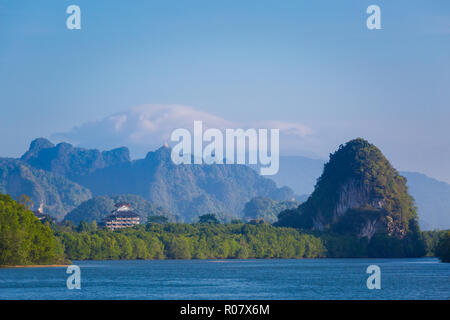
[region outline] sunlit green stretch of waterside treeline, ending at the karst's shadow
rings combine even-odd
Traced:
[[[56,235],[73,260],[319,258],[326,253],[316,236],[267,224],[148,223]]]

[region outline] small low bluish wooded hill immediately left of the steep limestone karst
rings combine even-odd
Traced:
[[[267,197],[255,197],[245,204],[244,218],[247,220],[263,219],[273,223],[281,211],[293,209],[300,205],[298,201],[279,201]]]

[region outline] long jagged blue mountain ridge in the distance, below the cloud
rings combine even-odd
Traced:
[[[205,213],[239,215],[245,203],[257,196],[274,200],[294,196],[290,188],[277,188],[245,165],[174,165],[170,152],[162,147],[131,161],[127,148],[100,152],[39,138],[17,161],[74,181],[93,196],[141,196],[187,221]]]

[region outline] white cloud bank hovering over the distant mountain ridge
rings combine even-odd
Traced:
[[[204,130],[278,128],[280,148],[288,153],[303,149],[312,134],[310,128],[295,122],[270,120],[239,123],[184,105],[142,105],[82,124],[67,132],[53,134],[51,139],[102,150],[127,146],[132,157],[137,158],[168,143],[170,134],[177,128],[186,128],[192,132],[195,120],[203,121]]]

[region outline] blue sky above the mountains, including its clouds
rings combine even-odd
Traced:
[[[450,182],[450,2],[0,0],[0,111],[0,157],[37,137],[141,157],[204,119],[279,127],[286,155],[362,137]]]

